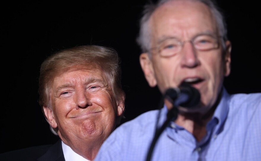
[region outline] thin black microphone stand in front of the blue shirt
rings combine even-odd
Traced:
[[[177,119],[178,113],[179,113],[178,108],[177,107],[172,107],[171,110],[169,110],[168,113],[167,113],[167,119],[164,122],[164,124],[160,128],[156,127],[156,132],[155,132],[154,138],[153,138],[153,140],[152,140],[152,142],[150,144],[150,148],[149,148],[149,151],[147,153],[146,161],[150,161],[151,160],[153,149],[155,147],[155,144],[156,144],[158,138],[160,137],[160,134],[168,126],[168,124],[169,124],[169,122],[171,120],[175,121]]]

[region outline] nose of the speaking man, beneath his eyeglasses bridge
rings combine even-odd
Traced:
[[[181,50],[182,67],[193,68],[200,64],[198,59],[197,50],[194,48],[193,43],[191,41],[183,42],[183,48]]]

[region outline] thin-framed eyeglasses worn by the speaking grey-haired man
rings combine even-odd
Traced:
[[[190,42],[195,49],[200,51],[208,51],[212,49],[217,49],[219,47],[219,37],[215,37],[209,34],[201,34],[193,38],[192,40],[180,41],[176,38],[168,38],[160,42],[157,47],[151,48],[151,50],[156,49],[157,53],[162,57],[170,57],[179,53],[185,42]]]

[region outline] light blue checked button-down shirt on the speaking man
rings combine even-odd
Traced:
[[[222,99],[200,141],[171,122],[162,132],[153,161],[261,161],[261,93]],[[164,106],[159,124],[166,119]],[[101,146],[95,161],[146,161],[159,110],[148,111],[118,127]]]

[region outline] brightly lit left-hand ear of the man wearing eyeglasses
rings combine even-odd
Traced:
[[[144,76],[149,83],[149,86],[155,87],[157,85],[157,80],[155,78],[154,69],[152,62],[149,58],[149,53],[142,53],[140,55],[141,69],[143,70]]]

